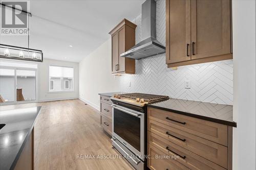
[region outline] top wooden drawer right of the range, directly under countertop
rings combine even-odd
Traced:
[[[164,125],[227,146],[228,126],[160,109],[147,108],[147,117]]]

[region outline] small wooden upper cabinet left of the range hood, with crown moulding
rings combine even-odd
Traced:
[[[135,60],[120,55],[135,45],[136,25],[123,19],[109,34],[112,45],[112,74],[135,74]]]

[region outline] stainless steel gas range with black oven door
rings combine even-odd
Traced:
[[[115,94],[111,98],[112,145],[136,169],[145,169],[146,165],[146,104],[167,99],[143,93]]]

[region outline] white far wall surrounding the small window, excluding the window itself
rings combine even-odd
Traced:
[[[49,66],[68,66],[74,68],[74,91],[49,92]],[[44,59],[38,64],[38,101],[53,101],[62,99],[77,99],[79,90],[79,68],[78,63]]]

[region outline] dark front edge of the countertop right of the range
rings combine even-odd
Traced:
[[[207,120],[207,121],[210,121],[210,122],[215,122],[215,123],[222,124],[222,125],[231,126],[231,127],[234,127],[234,128],[237,127],[237,123],[236,122],[230,122],[230,121],[221,120],[221,119],[218,119],[218,118],[212,118],[212,117],[207,117],[207,116],[203,116],[203,115],[183,112],[183,111],[180,111],[180,110],[167,109],[167,108],[160,107],[160,106],[147,105],[147,107],[152,107],[152,108],[156,108],[156,109],[170,111],[170,112],[174,112],[174,113],[177,113],[177,114],[183,114],[185,116],[200,118],[200,119],[203,119],[203,120]]]

